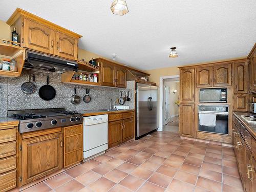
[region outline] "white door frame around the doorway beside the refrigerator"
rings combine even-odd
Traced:
[[[170,75],[170,76],[161,76],[159,78],[159,128],[157,131],[163,131],[163,117],[164,117],[164,99],[163,99],[163,94],[164,94],[164,84],[163,80],[164,79],[175,79],[179,78],[180,75]]]

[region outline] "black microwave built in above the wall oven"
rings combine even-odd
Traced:
[[[200,89],[199,101],[200,102],[226,103],[227,102],[227,88]]]

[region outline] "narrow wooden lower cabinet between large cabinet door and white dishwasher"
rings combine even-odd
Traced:
[[[82,124],[63,127],[64,167],[82,160]]]

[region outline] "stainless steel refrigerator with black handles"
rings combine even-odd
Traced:
[[[136,83],[136,138],[158,129],[158,98],[158,87]]]

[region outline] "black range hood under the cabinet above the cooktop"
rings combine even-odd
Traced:
[[[77,71],[76,61],[59,58],[44,53],[26,50],[25,69],[64,73],[67,71]]]

